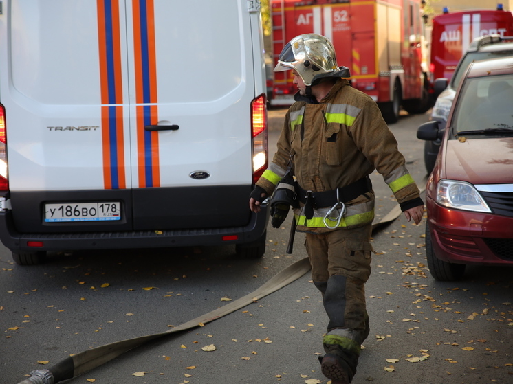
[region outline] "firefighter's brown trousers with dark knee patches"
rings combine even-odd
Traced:
[[[323,294],[329,317],[325,352],[342,357],[351,367],[351,376],[356,372],[360,346],[369,335],[364,283],[371,274],[371,231],[369,224],[325,234],[307,233],[305,240],[312,280]]]

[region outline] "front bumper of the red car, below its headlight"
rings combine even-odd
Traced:
[[[449,210],[426,199],[433,251],[445,262],[513,265],[513,218]]]

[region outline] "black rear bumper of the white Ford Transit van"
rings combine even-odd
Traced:
[[[0,212],[0,240],[8,249],[17,252],[245,244],[260,238],[268,221],[268,204],[265,204],[258,214],[251,214],[248,225],[243,227],[22,234],[14,227],[12,213],[6,211]],[[42,245],[31,247],[30,242]]]

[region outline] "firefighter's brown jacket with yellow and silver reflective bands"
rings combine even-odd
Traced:
[[[298,99],[307,100],[296,95]],[[419,189],[378,105],[347,80],[339,78],[318,104],[298,101],[290,106],[276,154],[257,182],[269,196],[285,174],[290,159],[296,181],[304,190],[335,190],[376,169],[403,210],[422,204]],[[415,203],[408,206],[411,201]],[[294,209],[298,231],[329,231],[323,218],[330,208],[317,207],[310,219],[305,217],[302,207]],[[338,227],[360,227],[372,223],[373,218],[374,194],[367,192],[346,204]],[[329,221],[329,226],[333,225],[336,222]]]

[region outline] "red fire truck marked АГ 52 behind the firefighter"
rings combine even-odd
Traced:
[[[420,0],[270,0],[274,63],[294,36],[316,33],[334,44],[351,84],[378,102],[386,122],[400,106],[424,113],[429,104]],[[274,73],[271,105],[292,104],[290,71]]]

